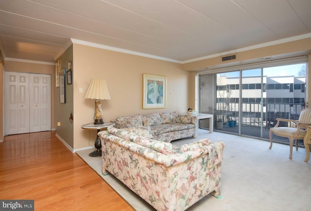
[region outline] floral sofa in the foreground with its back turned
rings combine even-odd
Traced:
[[[183,211],[211,193],[221,197],[224,142],[181,147],[153,140],[150,126],[98,133],[103,174],[111,173],[158,211]]]

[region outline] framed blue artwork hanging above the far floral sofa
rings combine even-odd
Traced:
[[[167,78],[143,74],[142,108],[166,108]]]

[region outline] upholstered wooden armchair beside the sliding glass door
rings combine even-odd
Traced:
[[[270,147],[272,148],[272,133],[277,136],[287,137],[290,140],[290,159],[292,159],[293,154],[293,141],[296,140],[296,151],[298,151],[298,141],[303,140],[307,131],[306,126],[311,125],[311,108],[306,108],[301,110],[298,120],[288,120],[288,119],[276,119],[277,123],[275,127],[270,128]],[[295,123],[296,127],[279,127],[280,122],[288,122],[289,124]]]

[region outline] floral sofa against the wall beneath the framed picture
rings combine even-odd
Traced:
[[[111,120],[116,128],[150,126],[153,138],[158,141],[171,142],[192,136],[195,138],[197,118],[177,112],[131,115]]]

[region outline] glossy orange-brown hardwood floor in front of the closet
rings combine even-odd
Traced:
[[[34,199],[37,211],[133,210],[55,131],[6,136],[0,166],[0,199]]]

